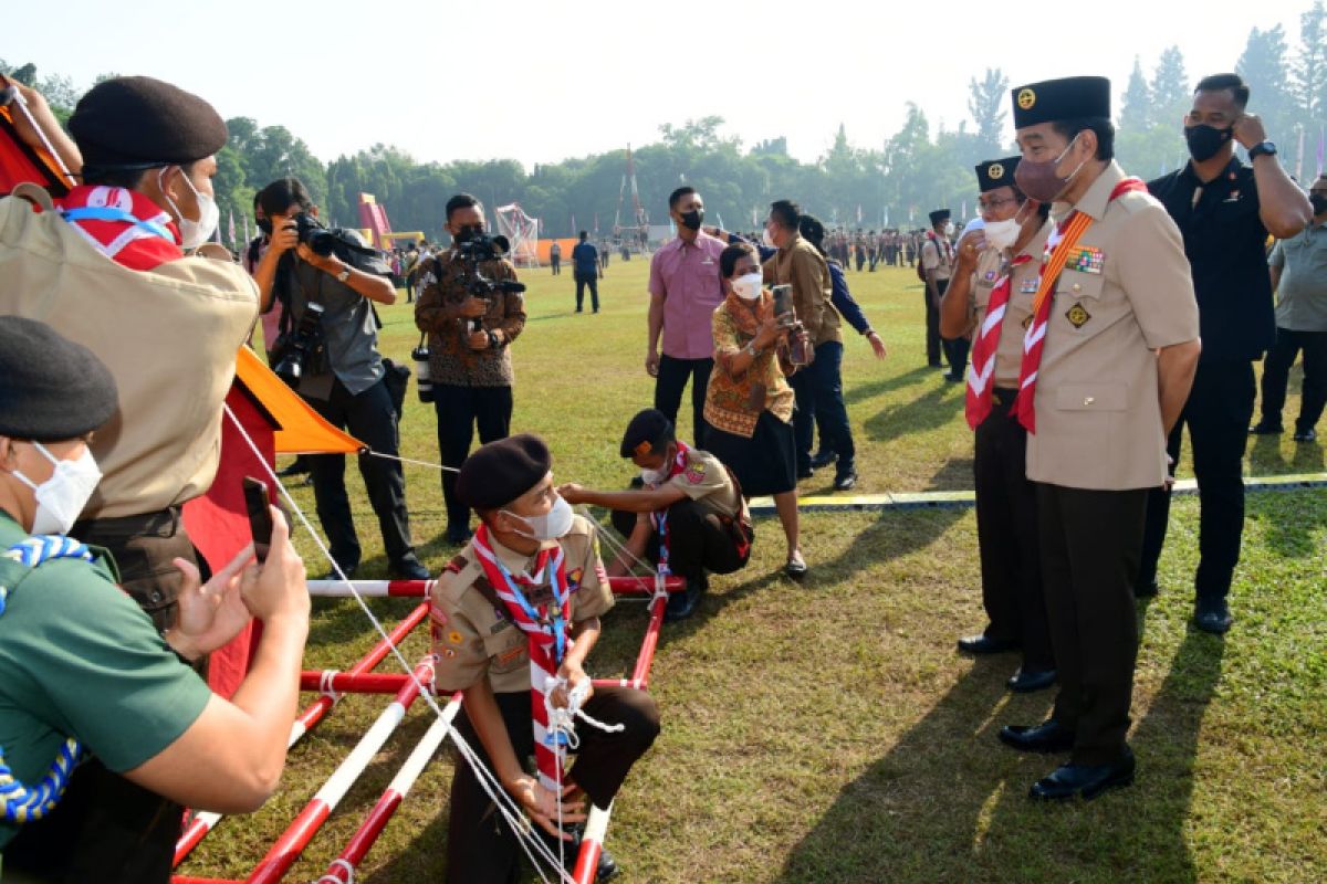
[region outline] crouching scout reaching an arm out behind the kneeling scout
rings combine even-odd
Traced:
[[[626,535],[626,558],[609,574],[620,577],[641,557],[669,574],[686,578],[686,591],[669,598],[669,620],[695,612],[707,588],[706,570],[731,574],[751,557],[751,517],[736,481],[719,459],[678,441],[661,411],[648,408],[632,419],[622,436],[622,457],[641,468],[644,486],[596,492],[568,484],[557,493],[568,504],[613,510],[613,526]]]

